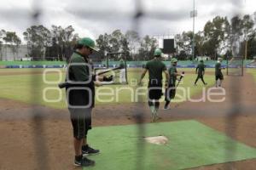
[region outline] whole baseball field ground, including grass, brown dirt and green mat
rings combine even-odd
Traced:
[[[141,71],[128,70],[128,85],[96,87],[88,139],[101,153],[90,156],[96,166],[86,169],[255,169],[255,69],[225,76],[220,89],[214,70],[206,71],[207,86],[201,80],[194,86],[195,69],[178,68],[185,77],[175,101],[163,110],[162,97],[154,123],[147,82],[136,91]],[[65,90],[57,88],[64,79],[64,69],[0,70],[1,170],[75,169]],[[166,143],[145,140],[156,136]]]

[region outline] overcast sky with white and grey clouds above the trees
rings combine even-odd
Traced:
[[[67,27],[72,25],[80,37],[96,38],[99,34],[120,29],[127,31],[135,24],[132,16],[136,0],[0,0],[0,29],[16,31],[20,37],[34,21],[31,14],[40,8],[40,23],[50,29],[51,25]],[[189,12],[193,10],[192,0],[143,0],[144,17],[140,20],[140,32],[145,35],[178,33],[192,30]],[[195,31],[200,31],[207,20],[214,16],[253,14],[255,0],[195,0],[198,16]]]

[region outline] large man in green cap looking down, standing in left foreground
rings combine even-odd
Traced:
[[[91,111],[94,107],[96,76],[91,71],[88,56],[96,51],[95,42],[89,37],[79,40],[67,66],[67,105],[73,125],[75,166],[93,166],[95,161],[83,155],[97,154],[87,144],[87,133],[91,129]],[[112,77],[97,77],[98,81],[112,81]]]

